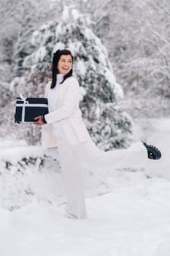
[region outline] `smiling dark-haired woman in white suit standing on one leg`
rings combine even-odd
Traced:
[[[69,50],[53,53],[52,82],[45,97],[49,113],[34,118],[42,127],[42,146],[58,146],[63,184],[68,202],[66,213],[74,219],[87,217],[82,185],[82,162],[98,167],[142,167],[147,160],[161,158],[161,152],[146,143],[134,143],[128,149],[101,151],[90,138],[79,108],[80,88],[72,76],[73,56]]]

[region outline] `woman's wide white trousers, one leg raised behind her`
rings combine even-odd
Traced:
[[[93,140],[70,145],[64,135],[58,138],[58,157],[67,195],[66,212],[75,219],[87,218],[82,180],[82,163],[107,168],[142,167],[147,162],[147,149],[142,142],[128,149],[101,151]]]

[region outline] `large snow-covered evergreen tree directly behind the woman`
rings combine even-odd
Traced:
[[[87,16],[65,7],[60,22],[51,21],[34,31],[33,53],[23,61],[27,73],[12,85],[25,97],[42,96],[53,52],[69,48],[82,91],[80,108],[93,141],[103,150],[123,148],[131,138],[131,118],[118,107],[123,90],[113,75],[107,49],[89,25]]]

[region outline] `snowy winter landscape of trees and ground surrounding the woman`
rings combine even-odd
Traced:
[[[0,0],[0,254],[170,255],[169,0]],[[83,167],[88,219],[64,215],[58,148],[15,123],[15,102],[44,97],[53,53],[69,49],[80,109],[102,151],[136,141],[162,159]]]

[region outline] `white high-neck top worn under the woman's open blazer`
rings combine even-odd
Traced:
[[[64,76],[63,74],[57,75],[57,83],[56,83],[55,88],[50,89],[50,91],[47,94],[49,113],[56,110],[56,95],[58,93],[58,84],[61,83],[61,81],[63,80],[63,76]],[[52,123],[50,125],[53,128],[53,133],[56,136],[56,138],[59,138],[59,136],[62,133],[61,132],[61,122],[55,121],[54,123]]]

